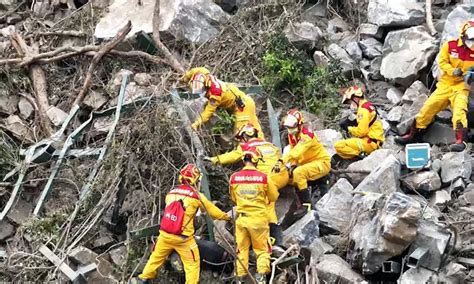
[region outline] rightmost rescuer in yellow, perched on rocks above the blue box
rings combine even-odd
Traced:
[[[433,117],[451,106],[456,143],[450,145],[450,150],[461,152],[466,148],[468,133],[466,114],[469,99],[469,86],[464,84],[463,76],[474,66],[474,20],[462,26],[458,39],[447,41],[441,46],[438,60],[441,76],[436,84],[436,90],[416,115],[408,133],[397,137],[396,141],[407,144],[420,140]]]

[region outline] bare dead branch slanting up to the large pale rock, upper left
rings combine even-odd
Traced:
[[[81,90],[79,91],[79,94],[76,97],[76,100],[74,101],[74,104],[80,104],[84,98],[86,97],[87,93],[89,92],[89,89],[92,85],[92,74],[94,73],[95,67],[99,63],[99,61],[104,57],[104,55],[108,52],[110,52],[112,49],[114,49],[120,42],[122,42],[125,39],[125,36],[132,30],[132,22],[128,21],[127,24],[119,30],[119,32],[115,35],[115,37],[104,44],[99,51],[97,51],[97,54],[94,55],[92,58],[92,62],[89,65],[89,69],[87,70],[86,74],[86,79],[84,80],[84,84],[82,85]]]

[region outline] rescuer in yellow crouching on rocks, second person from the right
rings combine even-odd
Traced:
[[[379,149],[385,141],[382,121],[378,119],[377,110],[364,98],[364,93],[358,86],[352,86],[344,92],[342,103],[347,102],[357,108],[356,125],[341,125],[352,138],[336,141],[334,149],[343,159],[363,157]]]

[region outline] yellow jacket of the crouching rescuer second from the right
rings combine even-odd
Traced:
[[[348,128],[349,133],[357,138],[370,138],[383,143],[385,135],[382,121],[378,119],[377,110],[367,100],[360,100],[357,108],[357,126]]]

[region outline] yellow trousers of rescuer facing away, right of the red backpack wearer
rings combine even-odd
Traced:
[[[247,275],[249,266],[249,249],[257,257],[257,272],[267,274],[270,272],[270,229],[267,216],[251,216],[237,213],[235,221],[235,241],[237,243],[237,276]],[[242,265],[243,264],[243,265]]]

